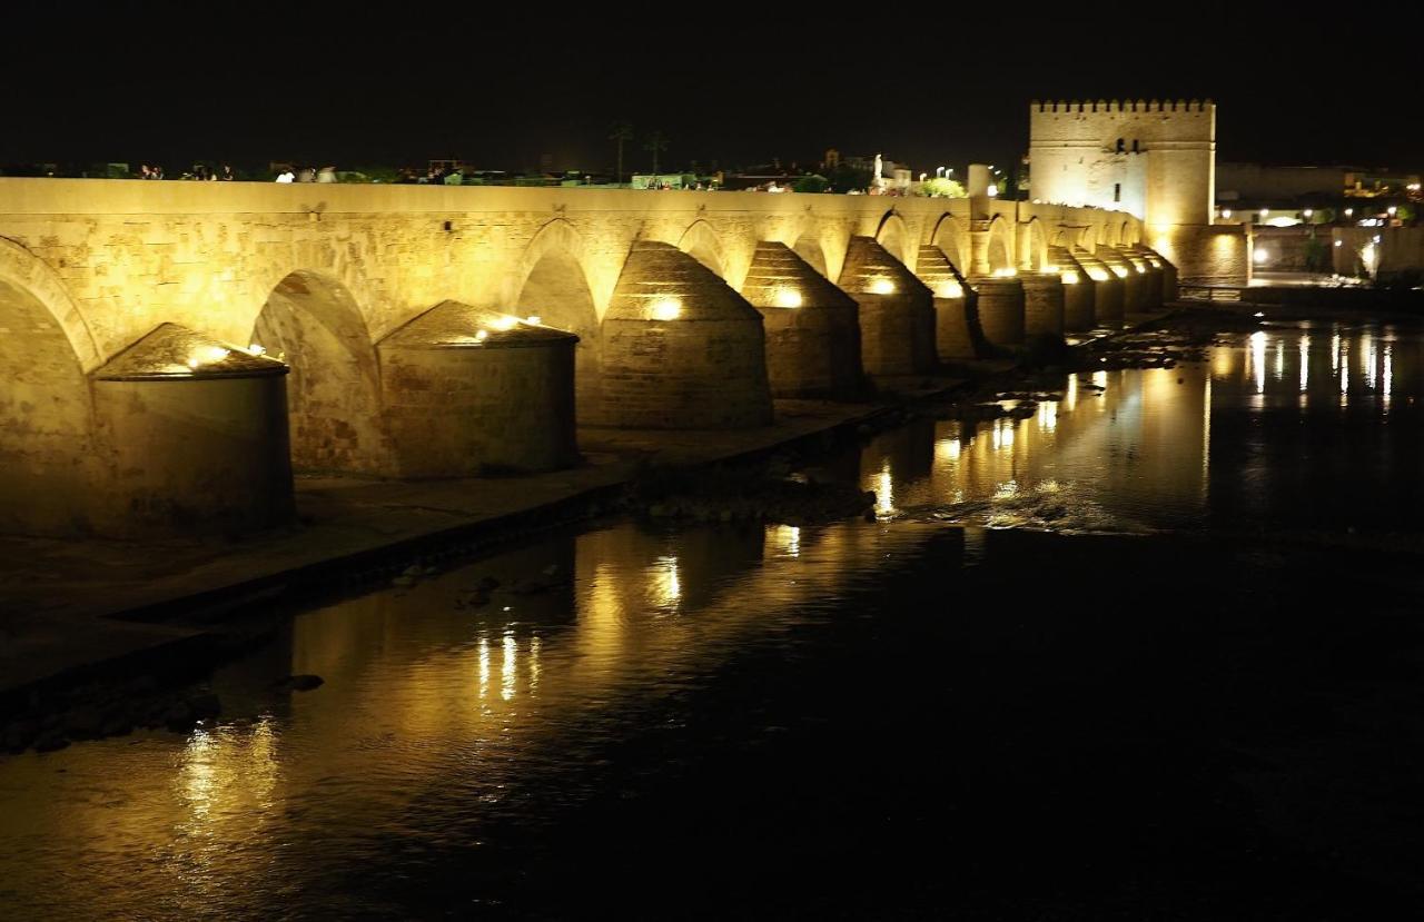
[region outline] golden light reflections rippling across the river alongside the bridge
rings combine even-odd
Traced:
[[[1266,384],[1276,413],[1303,413],[1296,397],[1312,386],[1317,397],[1330,396],[1334,373],[1350,369],[1351,347],[1366,356],[1373,349],[1378,370],[1370,384],[1376,360],[1364,363],[1351,417],[1376,386],[1381,403],[1394,398],[1396,414],[1417,397],[1414,344],[1336,333],[1326,376],[1323,333],[1270,336],[1283,337],[1277,361],[1300,360],[1299,376]],[[1213,492],[1250,495],[1265,482],[1237,470],[1236,451],[1243,431],[1262,427],[1232,425],[1229,415],[1253,413],[1263,367],[1253,350],[1218,350],[1209,366],[1114,373],[1101,394],[1069,377],[1062,401],[1044,401],[1052,408],[1041,403],[1025,420],[927,420],[877,437],[843,475],[876,488],[877,508],[913,518],[923,507],[970,524],[965,565],[984,553],[977,526],[987,522],[1065,531],[1199,522],[1209,475]],[[1313,377],[1312,359],[1320,363]],[[1101,386],[1108,378],[1092,376]],[[1227,413],[1220,435],[1213,403]],[[1216,471],[1213,438],[1226,458]],[[249,726],[0,760],[0,879],[24,899],[48,901],[57,916],[105,905],[115,918],[141,918],[161,894],[175,918],[251,918],[259,904],[244,901],[288,879],[298,865],[286,865],[300,861],[293,855],[359,851],[372,830],[440,832],[471,810],[501,810],[531,764],[585,757],[581,740],[607,730],[600,721],[619,696],[662,694],[662,682],[678,687],[780,623],[779,613],[836,593],[856,573],[871,578],[887,549],[936,534],[938,521],[675,531],[621,524],[511,551],[402,596],[376,593],[305,615],[285,646],[219,674],[225,703],[259,701]],[[567,586],[454,606],[483,575],[508,583],[551,565],[570,576]],[[668,618],[669,609],[679,616]],[[273,679],[300,672],[326,684],[272,692]],[[281,894],[265,899],[263,908],[282,905]]]

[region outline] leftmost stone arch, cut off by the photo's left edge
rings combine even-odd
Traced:
[[[85,354],[97,360],[98,350],[64,286],[0,240],[0,532],[90,531],[97,464]]]

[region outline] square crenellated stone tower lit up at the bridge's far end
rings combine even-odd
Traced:
[[[1183,280],[1243,283],[1239,229],[1213,228],[1216,104],[1210,100],[1034,101],[1030,196],[1122,211]]]

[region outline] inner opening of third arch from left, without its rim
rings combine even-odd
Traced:
[[[515,304],[513,313],[520,317],[537,317],[543,326],[578,336],[574,413],[581,424],[598,423],[602,415],[602,339],[594,296],[577,256],[562,246],[545,249],[525,276]]]

